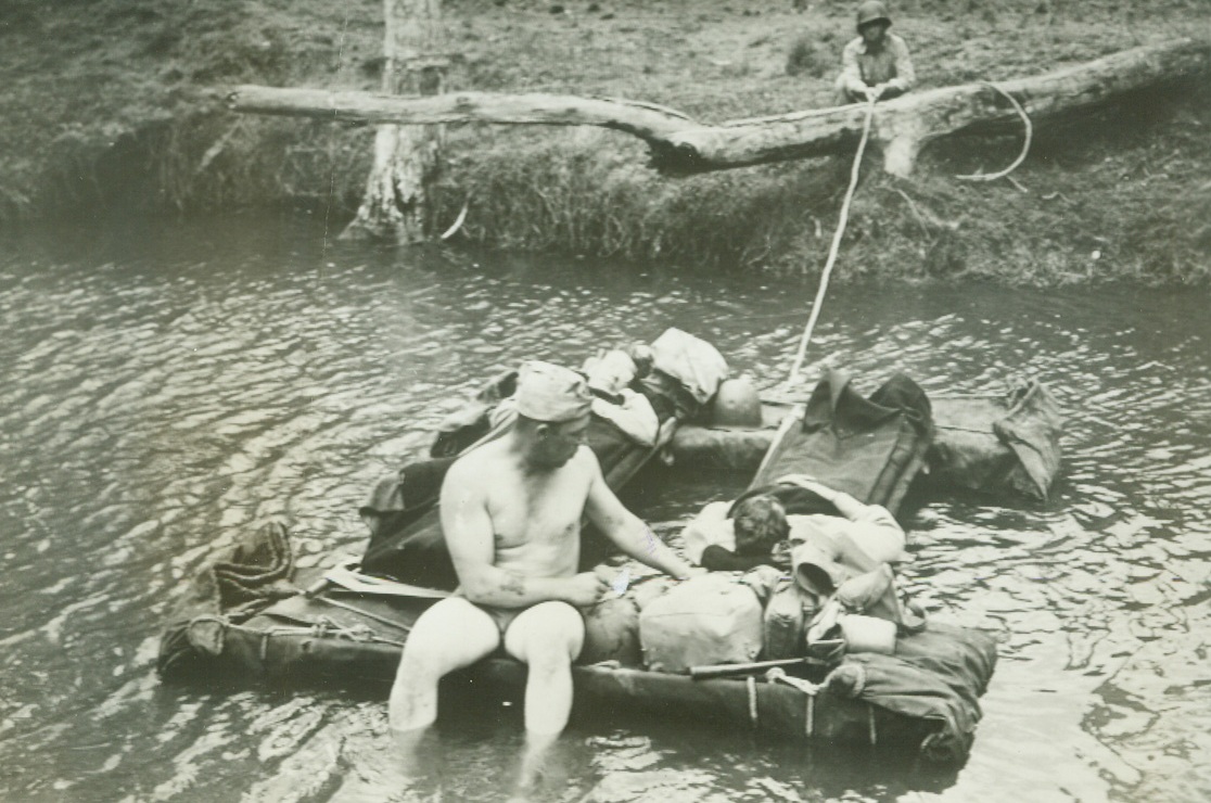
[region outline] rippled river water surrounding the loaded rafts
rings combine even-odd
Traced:
[[[774,384],[813,291],[354,247],[310,220],[10,243],[0,798],[501,799],[515,710],[446,712],[421,787],[394,769],[384,689],[161,684],[156,641],[182,581],[270,516],[291,521],[303,563],[356,550],[367,483],[523,357],[578,362],[679,326]],[[1049,505],[943,497],[908,522],[909,589],[1001,639],[970,761],[937,774],[586,716],[540,799],[1206,799],[1207,309],[1206,291],[832,293],[809,357],[867,389],[894,369],[936,395],[1034,375],[1066,407]],[[687,483],[632,506],[670,522],[728,491]]]

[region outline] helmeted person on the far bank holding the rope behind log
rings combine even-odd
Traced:
[[[908,46],[889,33],[891,17],[879,0],[857,7],[857,36],[842,51],[837,79],[839,103],[890,99],[912,88],[913,71]]]

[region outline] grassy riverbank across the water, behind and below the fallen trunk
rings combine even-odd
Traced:
[[[851,2],[447,0],[452,88],[626,97],[695,119],[828,105]],[[920,84],[1038,74],[1176,36],[1211,38],[1211,4],[903,0]],[[304,205],[348,219],[367,128],[231,115],[241,82],[377,88],[383,4],[350,0],[10,0],[0,16],[0,223],[54,214]],[[928,149],[911,180],[871,157],[838,277],[1061,283],[1211,276],[1211,92],[1150,97],[1040,132],[1015,182],[959,182],[1015,137]],[[599,130],[460,126],[436,199],[458,239],[513,249],[814,274],[845,159],[670,179]]]

